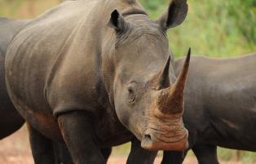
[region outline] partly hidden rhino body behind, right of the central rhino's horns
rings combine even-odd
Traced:
[[[176,73],[183,59],[175,63]],[[183,122],[201,164],[217,164],[217,146],[256,151],[256,53],[238,58],[194,57],[185,90]],[[186,154],[187,152],[185,152]],[[162,163],[182,163],[165,152]]]

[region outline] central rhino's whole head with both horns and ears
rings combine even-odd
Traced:
[[[185,0],[174,0],[157,20],[115,10],[108,22],[116,38],[113,106],[144,149],[183,150],[188,144],[182,114],[190,51],[176,79],[166,37],[166,30],[181,24],[187,12]]]

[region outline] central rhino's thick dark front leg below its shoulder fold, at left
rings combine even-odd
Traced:
[[[106,163],[95,144],[92,123],[86,112],[70,112],[58,118],[60,130],[76,164]]]

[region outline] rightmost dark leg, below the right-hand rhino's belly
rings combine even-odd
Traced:
[[[218,164],[217,146],[195,145],[192,150],[199,164]]]

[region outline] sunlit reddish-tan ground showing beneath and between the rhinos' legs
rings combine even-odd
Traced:
[[[127,155],[130,151],[130,144],[117,146],[113,149],[111,158],[108,164],[125,164]],[[230,151],[221,150],[222,155],[234,157],[234,154],[230,154]],[[155,163],[161,162],[161,153],[157,156]],[[22,127],[18,132],[8,136],[4,140],[0,140],[0,163],[1,164],[33,164],[33,158],[29,148],[29,136],[26,127]],[[196,158],[192,153],[188,154],[184,164],[197,163]],[[256,163],[243,160],[243,162],[236,162],[235,158],[230,158],[227,162],[221,162],[223,164],[244,164],[244,163]]]

